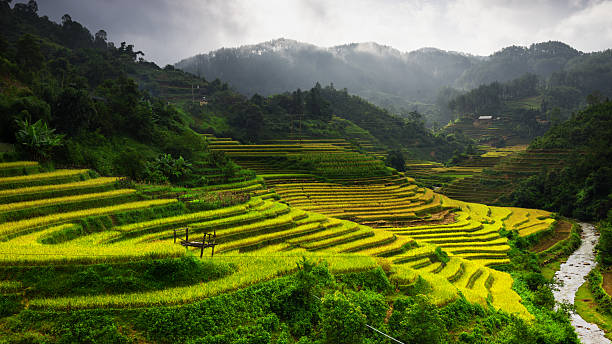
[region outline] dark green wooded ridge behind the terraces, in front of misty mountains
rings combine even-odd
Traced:
[[[171,67],[138,64],[130,75],[154,96],[185,109],[192,129],[243,143],[339,139],[364,151],[401,149],[407,155],[446,161],[470,142],[461,135],[453,140],[434,135],[418,113],[401,118],[333,85],[316,83],[310,89],[247,98],[218,79],[209,82]]]

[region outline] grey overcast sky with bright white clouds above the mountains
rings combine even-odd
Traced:
[[[612,48],[612,0],[38,0],[38,7],[56,22],[68,13],[92,34],[104,29],[161,66],[280,37],[476,55],[549,40],[585,52]]]

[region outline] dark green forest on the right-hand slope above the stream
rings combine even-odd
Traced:
[[[594,99],[586,109],[536,139],[533,149],[572,151],[561,170],[542,171],[513,193],[514,204],[565,216],[604,219],[612,207],[612,102]]]

